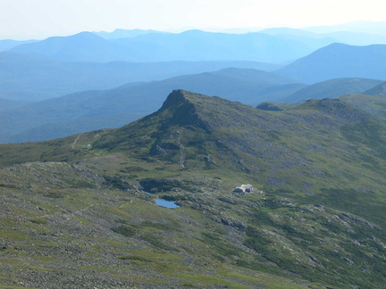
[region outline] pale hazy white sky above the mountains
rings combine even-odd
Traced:
[[[0,0],[0,38],[386,21],[384,0]]]

